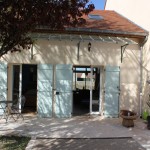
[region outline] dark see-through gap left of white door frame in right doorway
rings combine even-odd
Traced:
[[[90,112],[90,66],[73,68],[73,115]]]

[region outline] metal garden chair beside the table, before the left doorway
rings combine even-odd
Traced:
[[[25,96],[22,95],[21,96],[21,103],[19,100],[20,100],[20,98],[19,98],[19,96],[17,96],[17,99],[13,100],[13,104],[11,106],[11,112],[10,113],[11,113],[12,118],[14,120],[15,120],[15,118],[14,118],[15,115],[16,115],[17,119],[19,119],[19,117],[21,117],[24,120],[24,117],[22,115],[22,111],[24,108],[26,98],[25,98]],[[21,108],[19,106],[21,106]]]

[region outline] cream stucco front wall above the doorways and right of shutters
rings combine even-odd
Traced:
[[[11,86],[11,64],[15,63],[120,66],[120,109],[138,111],[140,81],[139,46],[127,46],[123,63],[121,63],[121,44],[91,42],[92,47],[89,52],[87,49],[88,42],[81,42],[80,56],[79,60],[77,60],[77,43],[78,41],[38,40],[34,44],[33,60],[31,60],[30,50],[5,55],[3,61],[10,64],[8,85]],[[10,87],[8,93],[11,93]]]

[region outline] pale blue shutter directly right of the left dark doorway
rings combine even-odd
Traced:
[[[38,115],[40,117],[52,117],[53,65],[38,65],[37,82]]]

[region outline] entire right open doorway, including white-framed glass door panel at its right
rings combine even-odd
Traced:
[[[73,115],[99,113],[100,68],[73,67]]]

